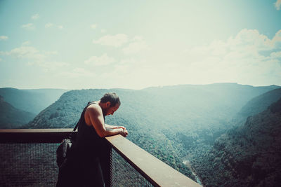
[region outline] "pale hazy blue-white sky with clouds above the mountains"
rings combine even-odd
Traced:
[[[281,0],[0,0],[0,88],[281,85]]]

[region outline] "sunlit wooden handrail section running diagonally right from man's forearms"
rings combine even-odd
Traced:
[[[190,186],[200,187],[199,183],[192,181],[176,169],[166,165],[158,158],[143,150],[133,142],[115,135],[106,137],[107,141],[122,157],[129,162],[145,179],[148,179],[154,186]]]

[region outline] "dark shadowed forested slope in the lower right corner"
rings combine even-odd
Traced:
[[[205,186],[280,186],[281,98],[216,140],[192,165]]]

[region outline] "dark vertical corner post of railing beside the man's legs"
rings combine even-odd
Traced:
[[[105,186],[110,187],[112,186],[112,147],[108,144],[106,139],[103,141],[103,153],[100,158],[100,162],[103,169]]]

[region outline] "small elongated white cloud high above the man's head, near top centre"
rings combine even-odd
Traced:
[[[128,36],[126,34],[106,35],[98,40],[93,40],[93,43],[98,43],[104,46],[120,47],[124,43],[128,42]]]

